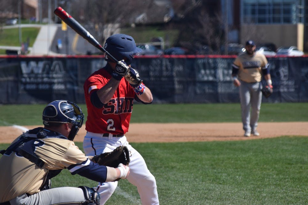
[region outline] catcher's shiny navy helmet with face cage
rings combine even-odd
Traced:
[[[43,124],[52,126],[53,123],[73,124],[67,137],[73,141],[79,128],[83,124],[83,112],[75,103],[65,100],[57,100],[49,103],[43,110]]]

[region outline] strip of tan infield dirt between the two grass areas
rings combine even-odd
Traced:
[[[32,129],[37,126],[23,126]],[[259,123],[260,136],[244,137],[241,123],[132,123],[125,134],[129,142],[189,142],[251,140],[284,135],[308,136],[308,122],[269,122]],[[19,126],[0,127],[0,143],[10,143],[22,133]],[[76,142],[82,142],[85,136],[83,126]]]

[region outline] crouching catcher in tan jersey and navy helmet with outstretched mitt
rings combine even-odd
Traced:
[[[83,112],[73,102],[53,101],[43,110],[43,127],[20,135],[0,159],[0,205],[100,204],[100,195],[86,186],[51,188],[50,179],[67,168],[99,182],[126,179],[129,155],[125,147],[107,156],[85,156],[73,139],[83,124]],[[119,159],[118,159],[119,158]],[[116,161],[120,160],[120,161]],[[121,161],[122,160],[122,161]],[[96,164],[111,164],[106,167]]]

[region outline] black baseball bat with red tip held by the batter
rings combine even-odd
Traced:
[[[79,34],[81,37],[83,37],[84,39],[86,39],[89,43],[91,43],[92,45],[94,45],[96,48],[98,48],[99,50],[101,50],[103,53],[105,53],[109,58],[111,58],[115,63],[118,62],[117,59],[115,59],[115,57],[113,57],[110,53],[108,53],[106,51],[106,49],[103,48],[103,46],[101,46],[99,44],[98,41],[96,41],[96,39],[83,27],[81,26],[81,24],[79,22],[77,22],[70,14],[68,14],[64,9],[62,9],[60,6],[58,6],[55,11],[54,14],[57,15],[62,21],[64,21],[68,26],[70,26],[74,31],[76,31],[77,34]],[[122,59],[120,59],[122,60]],[[138,83],[138,85],[140,85],[143,81],[140,78],[136,78],[135,79]]]

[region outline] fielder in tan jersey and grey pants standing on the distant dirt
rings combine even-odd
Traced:
[[[259,136],[257,123],[262,101],[262,74],[271,89],[273,86],[266,57],[256,52],[256,45],[251,40],[246,42],[245,49],[246,53],[237,56],[233,62],[233,84],[239,87],[244,136]]]

